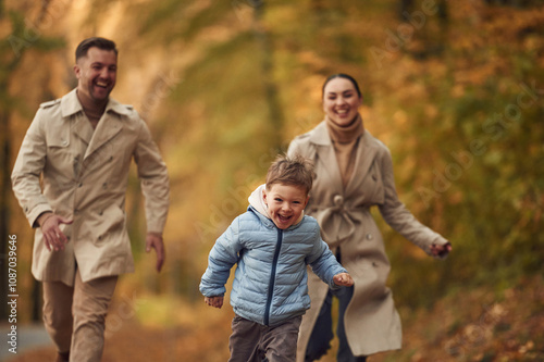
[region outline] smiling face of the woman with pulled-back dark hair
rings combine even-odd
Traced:
[[[349,125],[357,116],[361,103],[362,97],[349,79],[333,78],[323,89],[323,111],[338,126]]]

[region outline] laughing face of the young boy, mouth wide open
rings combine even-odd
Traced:
[[[281,229],[295,225],[310,197],[306,188],[294,185],[273,184],[263,191],[264,203],[275,226]]]

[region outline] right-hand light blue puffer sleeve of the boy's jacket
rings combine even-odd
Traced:
[[[347,271],[338,263],[326,242],[321,239],[319,233],[317,233],[312,253],[306,260],[313,273],[327,284],[331,289],[339,288],[339,286],[334,284],[333,277],[339,273],[347,273]]]

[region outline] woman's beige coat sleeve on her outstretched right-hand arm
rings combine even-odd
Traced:
[[[421,224],[398,199],[393,174],[393,160],[386,148],[381,155],[380,168],[385,192],[384,203],[380,205],[380,212],[385,222],[428,254],[431,254],[431,245],[446,244],[447,240],[444,237]]]

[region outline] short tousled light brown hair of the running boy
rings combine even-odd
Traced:
[[[308,195],[314,177],[313,162],[310,159],[301,155],[289,158],[281,154],[270,165],[267,173],[267,190],[270,190],[275,184],[282,184],[302,187]]]

